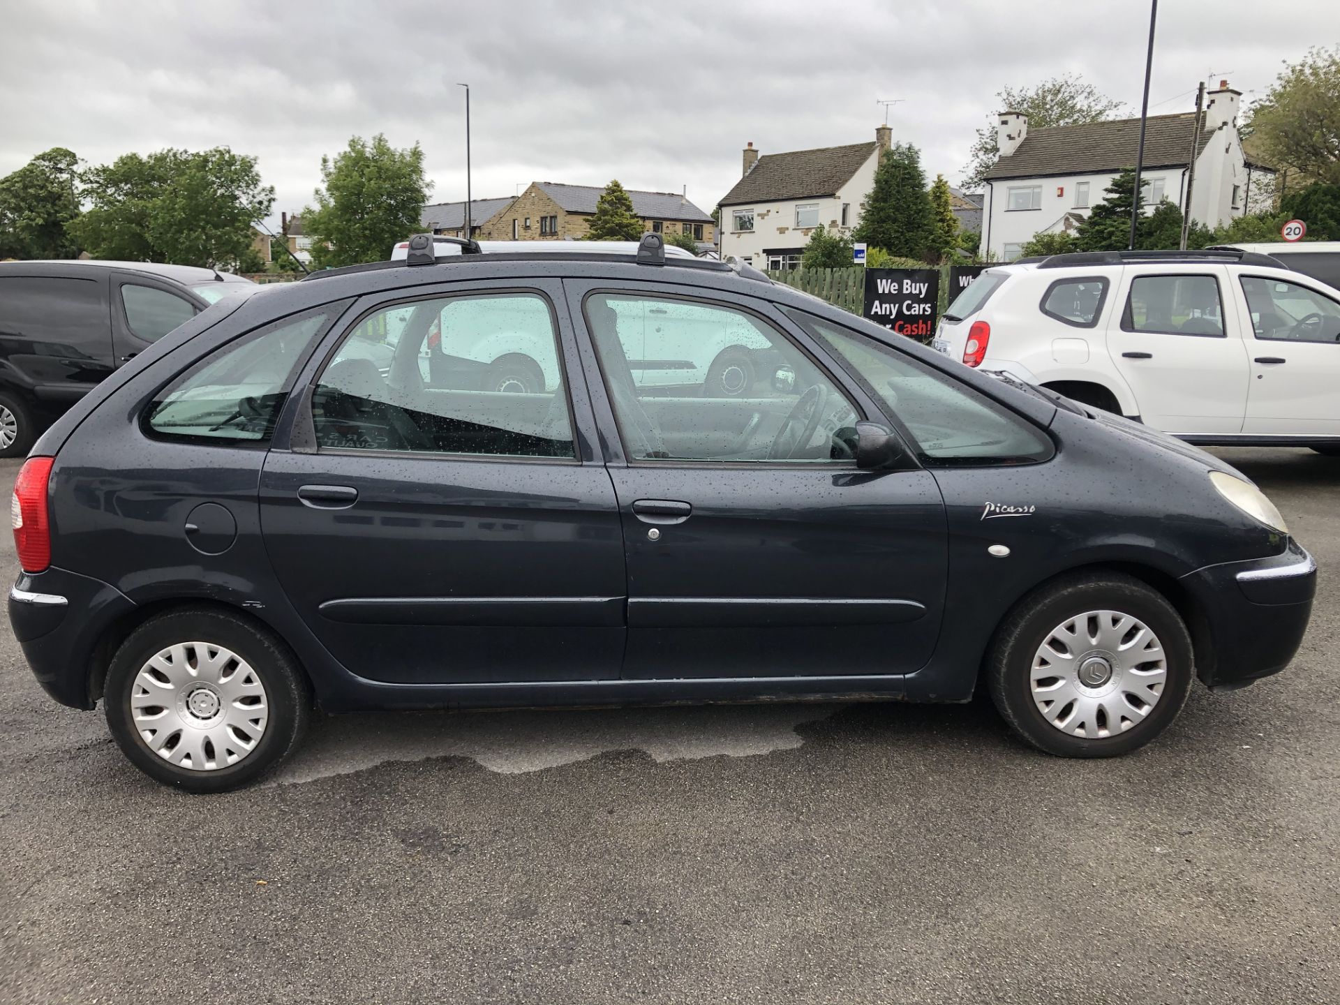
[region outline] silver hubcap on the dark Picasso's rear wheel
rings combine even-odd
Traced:
[[[153,655],[130,689],[130,714],[145,746],[190,770],[217,770],[256,749],[269,701],[256,671],[210,642],[182,642]]]

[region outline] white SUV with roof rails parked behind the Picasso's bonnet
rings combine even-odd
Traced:
[[[1244,251],[988,269],[934,348],[1194,444],[1340,453],[1340,291]]]

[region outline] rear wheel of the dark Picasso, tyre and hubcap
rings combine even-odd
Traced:
[[[288,647],[237,614],[170,611],[111,659],[107,725],[130,761],[186,792],[241,788],[302,740],[312,697]]]

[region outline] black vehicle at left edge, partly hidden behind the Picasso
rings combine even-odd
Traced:
[[[261,287],[190,265],[0,263],[0,457],[21,457],[118,366],[216,300]]]

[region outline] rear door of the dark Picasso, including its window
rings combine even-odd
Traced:
[[[618,677],[623,544],[580,379],[576,394],[565,377],[486,391],[422,359],[430,330],[457,355],[454,339],[493,323],[524,335],[541,370],[579,373],[560,292],[480,281],[382,293],[308,367],[291,449],[265,461],[261,527],[293,606],[352,673]]]

